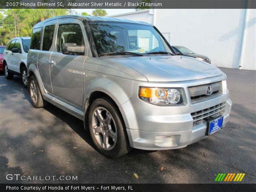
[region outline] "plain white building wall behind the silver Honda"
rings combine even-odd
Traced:
[[[215,66],[256,70],[255,9],[154,9],[113,17],[154,24],[171,45],[206,55]]]

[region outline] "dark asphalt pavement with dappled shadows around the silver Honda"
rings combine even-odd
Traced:
[[[118,159],[94,149],[81,120],[53,105],[34,108],[20,78],[1,73],[0,183],[214,183],[218,173],[245,173],[242,183],[256,183],[256,71],[221,69],[233,101],[226,127],[186,148],[133,150]],[[6,174],[77,180],[16,181]]]

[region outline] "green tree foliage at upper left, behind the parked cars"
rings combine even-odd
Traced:
[[[38,22],[71,14],[70,9],[2,9],[0,10],[0,44],[6,45],[14,37],[30,36]]]

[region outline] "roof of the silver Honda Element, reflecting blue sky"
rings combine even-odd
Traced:
[[[44,21],[41,21],[38,24],[34,25],[33,28],[42,27],[48,21],[55,20],[55,19],[62,19],[62,18],[76,18],[76,19],[86,20],[86,21],[111,21],[111,22],[124,22],[124,23],[151,25],[151,24],[148,24],[146,22],[132,21],[132,20],[120,19],[120,18],[98,17],[98,16],[82,16],[82,15],[65,15],[65,16],[57,16],[57,17],[53,17],[53,18],[49,18],[49,19],[46,19]]]

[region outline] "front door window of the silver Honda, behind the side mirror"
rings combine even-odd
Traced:
[[[80,25],[60,25],[57,35],[57,51],[62,52],[62,44],[75,43],[76,46],[84,46],[84,39]]]

